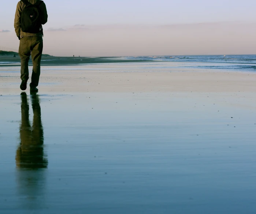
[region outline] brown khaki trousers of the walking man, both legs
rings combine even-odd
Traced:
[[[22,37],[19,42],[19,56],[21,57],[21,79],[29,79],[29,57],[33,61],[31,86],[38,86],[40,77],[40,63],[42,58],[43,41],[40,36]]]

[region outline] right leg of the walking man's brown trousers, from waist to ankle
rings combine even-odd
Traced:
[[[40,77],[40,64],[42,58],[42,37],[31,38],[31,57],[33,60],[33,71],[31,76],[31,87],[37,87]]]

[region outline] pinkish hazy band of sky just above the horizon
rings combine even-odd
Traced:
[[[44,35],[44,53],[55,56],[256,54],[256,23],[76,25]],[[18,49],[13,32],[0,38],[0,46]]]

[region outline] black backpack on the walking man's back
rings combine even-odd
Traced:
[[[21,12],[21,30],[25,33],[39,33],[42,30],[41,11],[39,5],[43,1],[31,4],[27,0],[21,0],[25,4]]]

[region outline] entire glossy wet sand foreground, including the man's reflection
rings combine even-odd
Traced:
[[[255,213],[255,73],[47,65],[37,94],[19,84],[0,67],[0,213]]]

